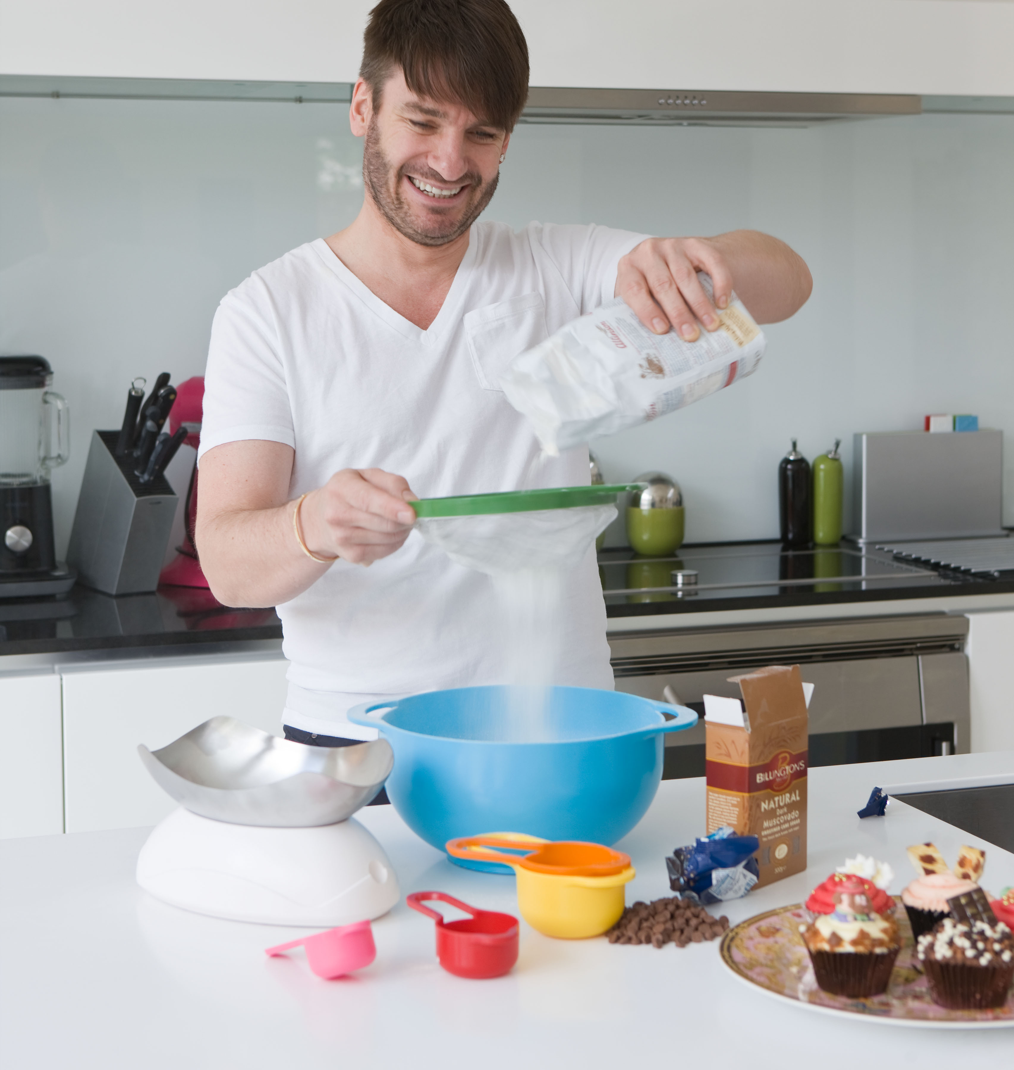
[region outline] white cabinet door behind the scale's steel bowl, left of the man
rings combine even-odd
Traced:
[[[138,744],[157,750],[220,714],[281,735],[288,664],[211,655],[63,668],[66,831],[153,825],[169,813],[175,804]]]

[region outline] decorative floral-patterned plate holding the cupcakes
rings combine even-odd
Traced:
[[[887,992],[866,999],[832,996],[817,988],[799,927],[809,921],[801,903],[748,918],[722,937],[722,962],[741,981],[777,999],[787,999],[826,1014],[861,1014],[885,1025],[937,1029],[982,1029],[1014,1026],[1014,995],[996,1010],[948,1010],[929,996],[916,959],[911,927],[901,900],[895,912],[902,950]]]

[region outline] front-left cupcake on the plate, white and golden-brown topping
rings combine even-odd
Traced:
[[[838,884],[834,910],[800,926],[817,984],[858,999],[885,992],[901,949],[897,922],[871,906],[861,877]]]

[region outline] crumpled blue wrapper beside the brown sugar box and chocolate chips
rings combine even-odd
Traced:
[[[740,899],[757,883],[759,846],[756,836],[737,836],[731,825],[723,825],[665,859],[669,886],[680,898],[704,905]]]

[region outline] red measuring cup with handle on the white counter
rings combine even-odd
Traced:
[[[422,905],[427,899],[449,903],[471,917],[445,921],[443,915]],[[448,974],[502,977],[518,961],[518,919],[512,915],[480,911],[442,891],[414,891],[406,902],[436,922],[436,958]]]

